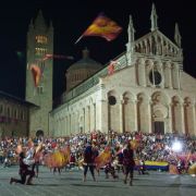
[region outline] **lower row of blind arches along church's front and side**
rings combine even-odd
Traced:
[[[119,133],[142,131],[194,135],[195,108],[188,97],[170,97],[162,91],[118,95],[111,90],[107,94],[107,101],[89,99],[78,106],[78,110],[73,108],[64,111],[65,115],[57,117],[59,135],[102,131],[100,124],[103,124],[106,133],[113,130]]]

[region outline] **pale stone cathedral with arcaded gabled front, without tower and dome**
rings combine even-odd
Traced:
[[[150,20],[150,33],[135,40],[130,16],[126,51],[68,87],[62,105],[50,113],[50,135],[94,130],[196,135],[196,81],[183,71],[177,24],[171,41],[158,28],[155,5]]]

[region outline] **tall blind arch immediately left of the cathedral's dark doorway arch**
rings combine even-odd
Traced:
[[[138,131],[148,132],[148,97],[140,93],[137,95],[137,123]]]

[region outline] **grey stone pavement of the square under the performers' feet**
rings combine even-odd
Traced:
[[[133,186],[123,184],[123,175],[119,180],[106,179],[101,171],[97,182],[90,174],[83,182],[83,171],[63,171],[61,175],[52,174],[49,169],[40,167],[38,179],[34,185],[10,185],[10,177],[19,177],[19,167],[0,167],[0,196],[195,196],[196,177],[189,175],[170,175],[166,172],[150,171],[149,175],[137,175],[135,172]]]

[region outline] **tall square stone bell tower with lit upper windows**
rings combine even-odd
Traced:
[[[46,23],[39,10],[30,21],[26,46],[25,99],[38,106],[29,113],[29,136],[49,135],[52,110],[53,26]]]

